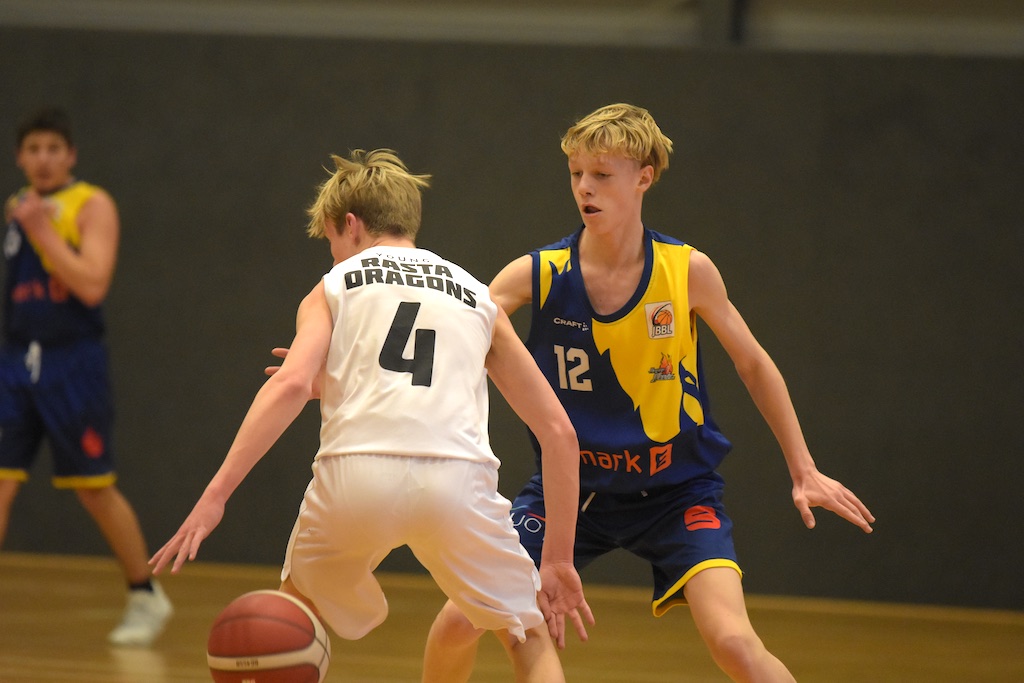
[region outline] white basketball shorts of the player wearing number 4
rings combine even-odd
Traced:
[[[342,638],[387,616],[374,569],[408,545],[478,629],[520,641],[544,623],[540,574],[512,527],[493,465],[450,458],[328,456],[313,462],[282,570]]]

